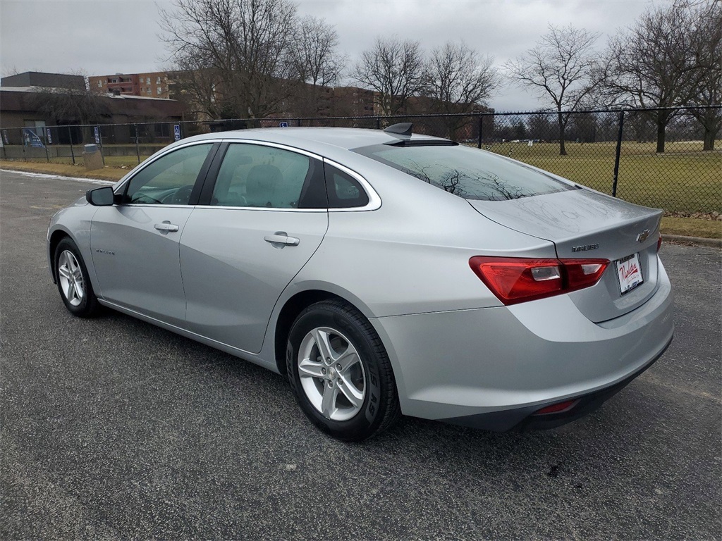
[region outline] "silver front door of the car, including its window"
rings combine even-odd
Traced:
[[[103,299],[184,325],[178,241],[212,150],[212,143],[203,143],[163,154],[126,182],[122,203],[97,208],[90,248]]]

